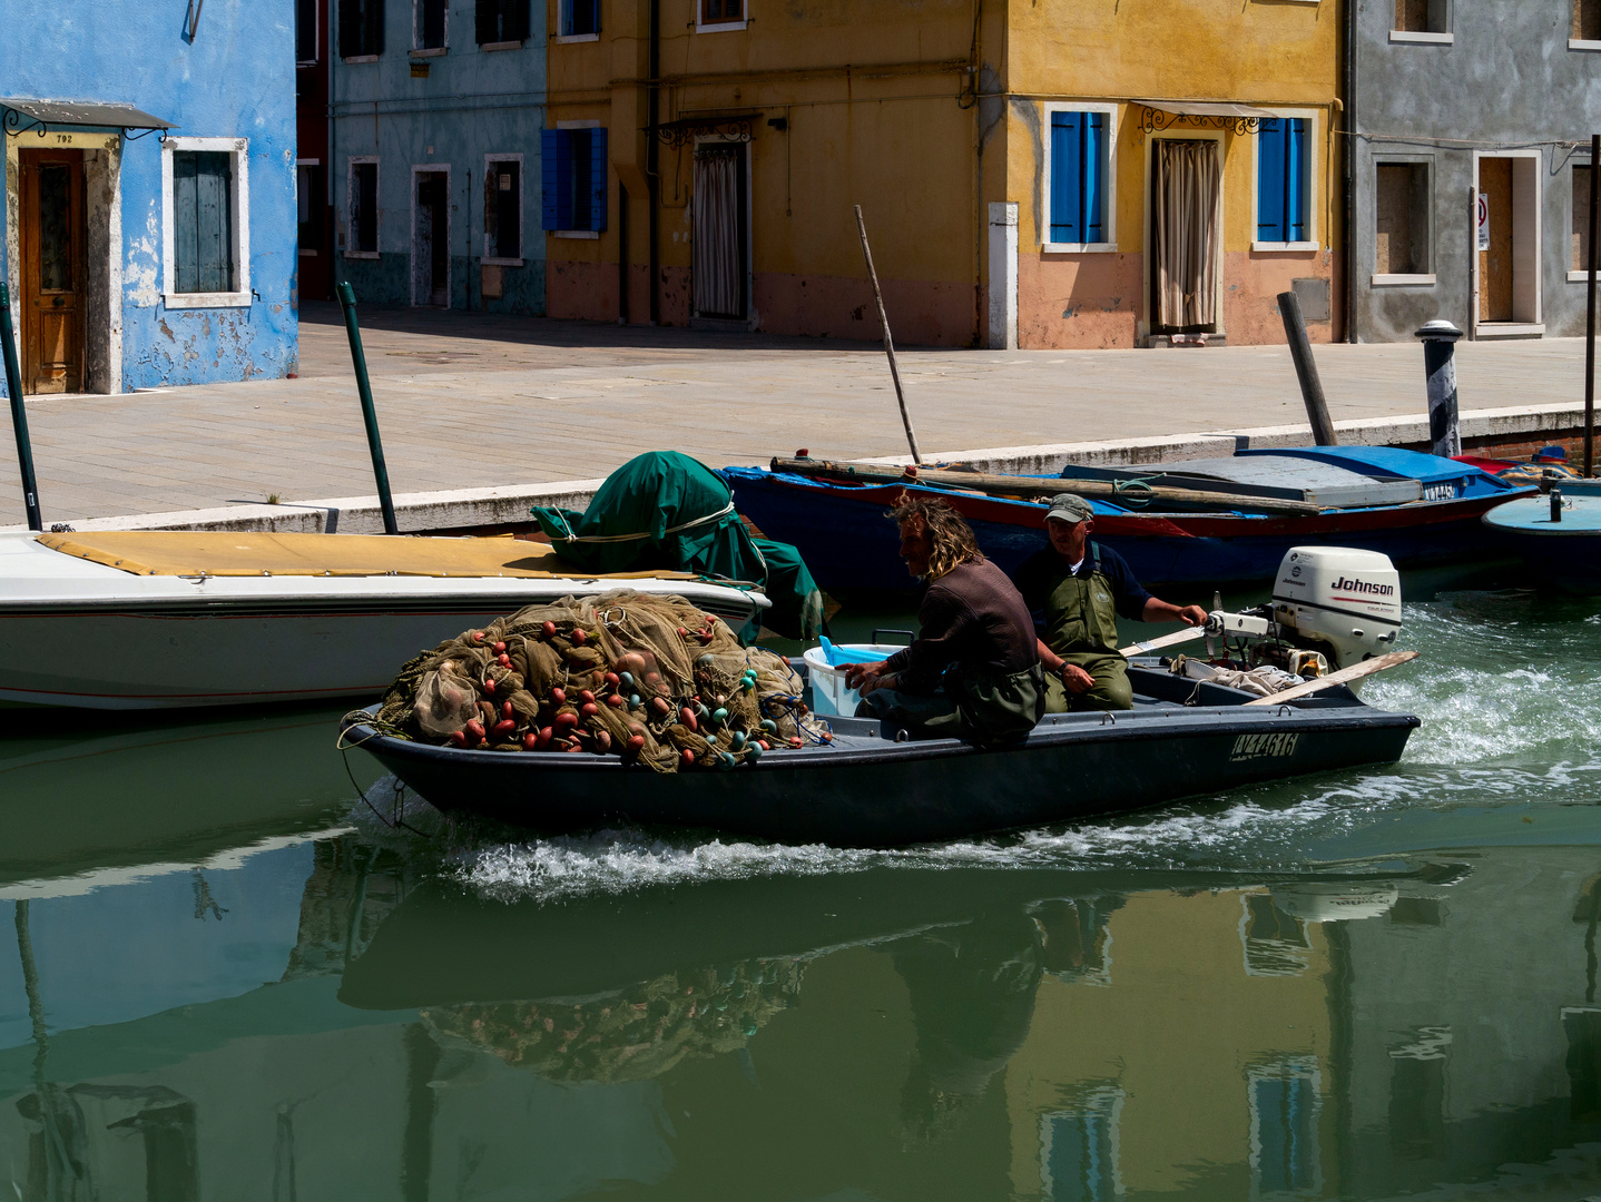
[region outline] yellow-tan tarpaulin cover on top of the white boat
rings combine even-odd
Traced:
[[[62,555],[136,576],[576,576],[695,579],[688,571],[581,571],[548,543],[511,538],[114,530],[40,535]]]

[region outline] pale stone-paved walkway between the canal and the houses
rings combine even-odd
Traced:
[[[906,453],[876,344],[408,309],[362,322],[397,495],[602,477],[645,450],[716,466]],[[1337,421],[1422,415],[1417,344],[1316,357]],[[927,458],[1303,423],[1284,347],[900,359]],[[1583,343],[1463,343],[1459,379],[1463,408],[1582,403]],[[331,304],[301,311],[299,379],[38,397],[27,415],[46,523],[373,491]],[[18,523],[0,459],[0,525]]]

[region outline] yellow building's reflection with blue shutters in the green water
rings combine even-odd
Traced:
[[[1013,1197],[1321,1196],[1334,1124],[1319,924],[1265,890],[1164,890],[1129,896],[1093,944],[1079,925],[1047,914],[1047,967],[1058,928],[1066,956],[1005,1069]]]

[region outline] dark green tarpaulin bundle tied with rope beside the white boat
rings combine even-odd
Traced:
[[[786,639],[823,632],[823,594],[800,552],[788,543],[751,538],[733,512],[733,493],[711,467],[679,451],[650,451],[607,477],[589,503],[572,509],[535,506],[533,517],[556,552],[589,571],[698,571],[754,584],[773,608],[752,619]],[[744,632],[746,642],[757,631]]]

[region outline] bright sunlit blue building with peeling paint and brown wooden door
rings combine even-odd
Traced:
[[[26,392],[298,370],[295,0],[10,0],[10,285]]]

